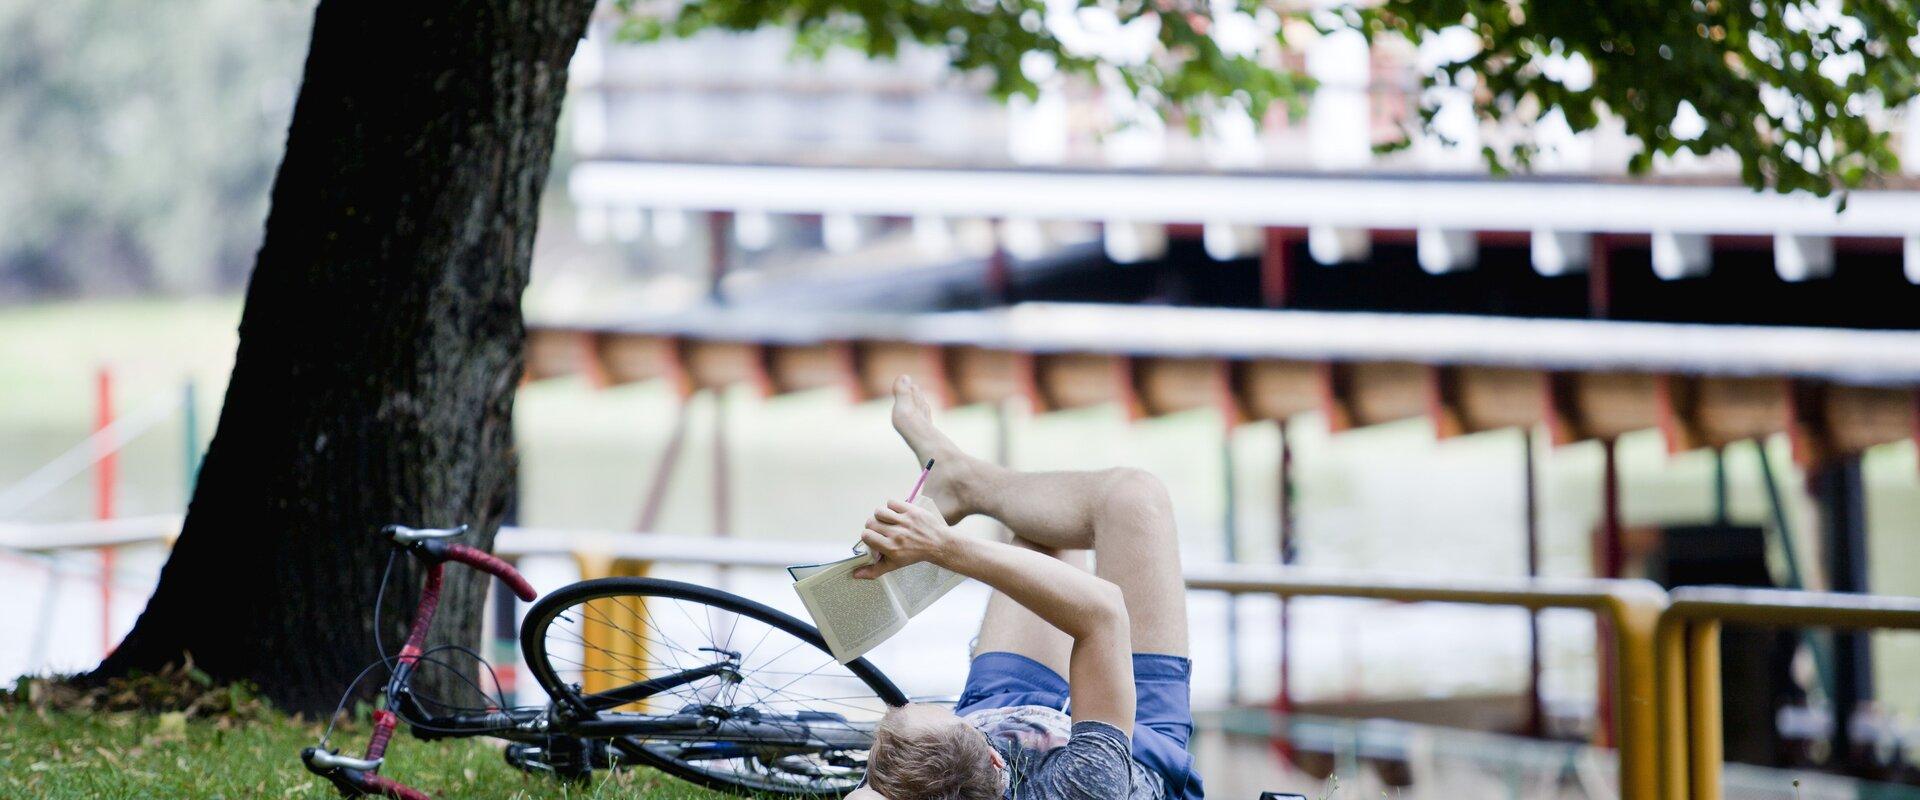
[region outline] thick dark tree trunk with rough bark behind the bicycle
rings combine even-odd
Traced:
[[[515,468],[520,292],[591,10],[319,4],[186,528],[90,677],[190,654],[286,710],[330,712],[378,660],[378,529],[470,524],[467,541],[492,543]],[[419,587],[401,558],[380,620],[392,650]],[[472,645],[482,599],[482,576],[451,568],[436,639]]]

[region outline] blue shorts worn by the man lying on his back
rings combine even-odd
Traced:
[[[1167,800],[1200,800],[1206,792],[1187,750],[1194,735],[1192,662],[1135,652],[1133,693],[1133,760],[1160,773]],[[1069,700],[1068,679],[1048,666],[1018,652],[981,652],[968,668],[954,714],[1008,706],[1068,710]]]

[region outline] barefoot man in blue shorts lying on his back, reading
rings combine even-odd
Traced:
[[[852,798],[1198,800],[1187,591],[1160,480],[973,459],[933,428],[904,376],[893,428],[918,460],[939,464],[925,485],[939,510],[876,510],[860,539],[879,560],[854,576],[929,560],[995,591],[960,704],[891,710]],[[956,535],[948,526],[970,514],[1000,520],[1014,539]]]

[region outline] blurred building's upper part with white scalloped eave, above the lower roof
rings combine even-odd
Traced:
[[[1277,25],[1225,19],[1235,48],[1271,42]],[[1075,35],[1135,44],[1125,29]],[[1018,274],[1066,257],[1204,272],[1102,286],[1131,295],[1104,299],[1914,326],[1910,180],[1853,192],[1841,213],[1832,198],[1753,192],[1724,155],[1663,157],[1634,178],[1636,144],[1617,125],[1498,129],[1475,117],[1471,88],[1427,90],[1434,132],[1377,153],[1417,117],[1419,71],[1473,36],[1288,40],[1265,58],[1319,82],[1300,113],[1277,107],[1256,127],[1223,109],[1192,136],[1117,86],[1048,77],[1044,61],[1027,65],[1039,98],[1002,106],[931,50],[812,61],[783,31],[636,46],[603,23],[574,65],[576,230],[637,251],[693,242],[705,255],[657,261],[735,301],[795,271],[818,278],[799,265],[968,259],[985,271],[968,303],[1083,299],[1087,280]],[[1574,82],[1586,71],[1578,58],[1548,67]],[[1515,138],[1540,148],[1534,173],[1492,178],[1482,144]]]

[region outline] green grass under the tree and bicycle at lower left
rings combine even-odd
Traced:
[[[186,719],[182,714],[75,714],[0,708],[0,796],[96,798],[332,798],[326,781],[300,765],[300,748],[321,727],[278,714],[253,721]],[[344,725],[336,744],[357,750],[367,727]],[[526,775],[501,760],[493,741],[394,739],[384,775],[436,800],[595,798],[710,800],[651,769],[599,773],[588,785]]]

